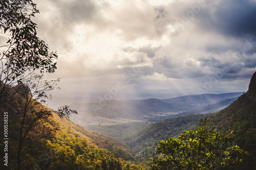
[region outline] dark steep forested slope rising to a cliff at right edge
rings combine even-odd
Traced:
[[[233,131],[235,143],[256,158],[256,72],[249,89],[230,106],[211,116],[210,127],[221,133]]]

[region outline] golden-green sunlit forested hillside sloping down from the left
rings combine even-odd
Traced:
[[[13,88],[15,89],[15,88]],[[21,169],[133,169],[142,168],[132,163],[134,160],[129,147],[116,139],[92,132],[71,122],[60,119],[44,105],[26,108],[27,99],[13,89],[0,104],[0,112],[8,115],[8,166],[1,163],[0,169],[17,169],[17,151],[21,124],[22,140],[20,159]],[[24,114],[26,112],[26,114]],[[41,114],[44,112],[44,114]],[[3,116],[4,114],[2,114]],[[42,115],[42,116],[40,116]],[[47,116],[50,115],[50,116]],[[35,119],[36,118],[36,119]],[[39,118],[39,119],[37,119]],[[4,117],[1,117],[4,119]],[[35,124],[30,126],[34,121]],[[4,121],[1,129],[4,132]],[[1,133],[3,139],[4,133]],[[0,143],[2,162],[5,153],[3,142]],[[145,168],[144,168],[145,169]]]

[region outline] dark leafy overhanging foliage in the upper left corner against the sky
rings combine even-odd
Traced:
[[[56,53],[36,35],[36,23],[31,20],[39,13],[32,0],[0,1],[0,102],[12,85],[22,82],[29,69],[54,72]]]

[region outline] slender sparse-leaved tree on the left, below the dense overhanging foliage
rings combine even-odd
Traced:
[[[48,92],[58,88],[57,82],[60,79],[46,81],[42,75],[34,73],[29,75],[29,79],[14,88],[14,91],[18,91],[19,95],[25,99],[24,108],[22,108],[22,120],[20,121],[17,169],[21,169],[22,160],[25,159],[31,146],[55,131],[55,128],[44,124],[53,113],[56,113],[60,118],[69,118],[71,114],[77,114],[69,106],[62,106],[58,108],[58,111],[42,107],[41,103],[45,103],[45,99],[51,99]],[[35,133],[33,133],[34,129],[36,130]]]

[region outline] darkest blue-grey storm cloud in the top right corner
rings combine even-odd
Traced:
[[[256,2],[226,0],[209,2],[199,13],[200,24],[224,35],[256,36]]]

